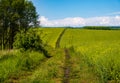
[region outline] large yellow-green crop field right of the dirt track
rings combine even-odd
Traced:
[[[101,82],[120,82],[120,31],[68,29],[61,47],[73,46],[83,54]]]

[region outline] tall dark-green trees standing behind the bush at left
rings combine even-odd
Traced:
[[[15,35],[39,25],[33,3],[28,0],[0,0],[0,49],[12,49]]]

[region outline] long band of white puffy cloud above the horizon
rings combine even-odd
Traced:
[[[79,26],[120,26],[120,16],[103,16],[103,17],[68,17],[58,20],[49,20],[45,16],[39,18],[41,26],[45,27],[79,27]]]

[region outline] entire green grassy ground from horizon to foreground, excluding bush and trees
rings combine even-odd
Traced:
[[[0,51],[1,83],[120,83],[120,30],[35,30],[52,57],[34,51]]]

